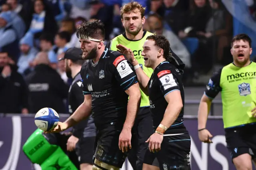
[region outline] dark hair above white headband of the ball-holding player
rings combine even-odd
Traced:
[[[104,24],[98,20],[92,22],[83,22],[77,29],[76,36],[78,39],[95,39],[105,40]]]

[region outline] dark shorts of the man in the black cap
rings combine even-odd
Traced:
[[[77,146],[77,155],[78,160],[80,163],[80,167],[82,164],[83,166],[92,165],[93,164],[93,155],[94,155],[94,142],[95,142],[95,136],[88,136],[83,137],[78,142]]]

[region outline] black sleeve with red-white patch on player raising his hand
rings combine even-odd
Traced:
[[[178,80],[170,70],[166,69],[159,71],[157,77],[160,81],[160,89],[164,97],[172,91],[180,91]]]

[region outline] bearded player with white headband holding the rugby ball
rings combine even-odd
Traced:
[[[82,23],[77,36],[82,57],[88,59],[80,71],[84,103],[52,132],[72,127],[92,112],[98,130],[92,169],[119,170],[132,147],[131,129],[140,106],[136,73],[124,55],[105,48],[102,23]]]

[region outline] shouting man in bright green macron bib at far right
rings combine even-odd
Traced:
[[[231,42],[233,62],[210,78],[198,109],[198,136],[210,143],[206,121],[212,100],[221,92],[226,143],[237,170],[252,170],[256,155],[256,63],[250,61],[252,40],[246,34]]]

